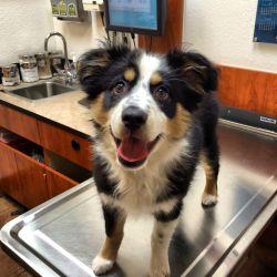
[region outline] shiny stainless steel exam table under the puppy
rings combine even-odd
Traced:
[[[277,136],[222,121],[218,204],[203,208],[205,176],[197,170],[170,247],[172,276],[226,276],[277,207]],[[105,276],[146,276],[151,216],[129,217],[114,269]],[[11,220],[3,248],[41,276],[94,276],[91,260],[104,238],[93,179]]]

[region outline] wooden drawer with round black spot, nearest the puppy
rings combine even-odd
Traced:
[[[69,161],[92,171],[92,143],[44,122],[39,123],[41,145]]]

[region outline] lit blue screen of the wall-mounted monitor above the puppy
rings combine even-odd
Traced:
[[[110,24],[157,30],[156,0],[109,0]]]

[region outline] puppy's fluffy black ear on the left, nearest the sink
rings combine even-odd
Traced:
[[[89,99],[95,99],[103,90],[106,82],[104,75],[111,64],[126,55],[130,49],[124,45],[93,49],[84,53],[79,60],[78,75],[83,90]]]

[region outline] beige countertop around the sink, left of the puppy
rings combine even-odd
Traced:
[[[17,89],[20,86],[18,85]],[[2,89],[3,86],[0,88],[0,90]],[[91,136],[90,110],[79,103],[85,96],[86,94],[82,90],[76,89],[72,92],[32,101],[0,91],[0,103],[9,104],[42,120],[45,119]]]

